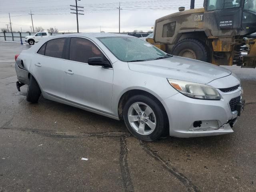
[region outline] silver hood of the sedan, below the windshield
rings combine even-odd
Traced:
[[[152,61],[128,62],[128,66],[130,70],[136,72],[202,84],[231,74],[231,71],[226,68],[178,56]]]

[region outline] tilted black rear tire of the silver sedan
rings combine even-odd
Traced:
[[[37,103],[40,97],[41,90],[36,82],[35,78],[30,75],[28,82],[27,101],[31,103]]]

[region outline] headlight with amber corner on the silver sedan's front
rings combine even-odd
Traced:
[[[167,80],[174,89],[185,96],[195,99],[220,100],[220,94],[212,86],[168,78]]]

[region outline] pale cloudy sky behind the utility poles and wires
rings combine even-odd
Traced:
[[[120,2],[121,32],[151,30],[157,18],[178,11],[178,7],[190,7],[190,0],[80,0],[84,15],[79,15],[80,32],[118,32],[118,7]],[[11,16],[12,29],[26,32],[32,26],[58,28],[59,32],[76,32],[76,14],[71,14],[70,4],[75,0],[0,0],[0,28],[6,28]],[[203,0],[196,0],[202,7]],[[30,30],[31,31],[31,30]]]

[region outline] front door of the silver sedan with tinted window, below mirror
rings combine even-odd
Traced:
[[[102,51],[86,38],[70,39],[69,62],[65,62],[66,99],[72,103],[111,113],[113,69],[88,65],[88,58],[102,57]]]

